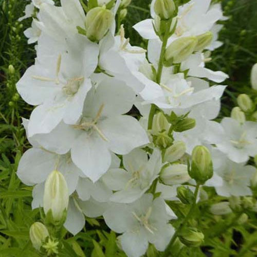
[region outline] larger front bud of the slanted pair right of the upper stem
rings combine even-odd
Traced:
[[[173,63],[185,61],[193,53],[197,42],[196,36],[188,36],[173,41],[165,51],[163,64],[171,66]]]

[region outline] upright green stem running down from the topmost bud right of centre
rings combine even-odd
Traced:
[[[170,37],[170,27],[171,27],[172,19],[167,21],[167,26],[166,26],[166,32],[164,34],[163,40],[162,40],[162,45],[161,45],[161,52],[160,52],[160,58],[158,62],[158,70],[157,70],[157,76],[156,76],[156,83],[160,84],[161,82],[161,75],[162,75],[162,69],[163,69],[163,56],[167,47],[167,43]],[[153,119],[154,119],[154,114],[156,111],[156,106],[152,104],[151,106],[151,111],[149,114],[149,119],[148,119],[148,130],[151,130],[153,127]]]

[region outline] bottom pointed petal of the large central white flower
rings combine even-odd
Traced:
[[[71,149],[74,163],[93,182],[97,181],[111,165],[111,153],[106,142],[98,135],[83,133]]]

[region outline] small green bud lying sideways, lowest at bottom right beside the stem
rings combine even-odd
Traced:
[[[179,240],[188,247],[198,247],[204,243],[205,235],[196,228],[185,228],[179,234]]]

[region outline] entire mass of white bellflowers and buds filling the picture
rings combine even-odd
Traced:
[[[124,17],[128,4],[32,0],[26,7],[22,19],[33,22],[25,35],[37,42],[37,57],[17,90],[36,107],[23,119],[32,148],[17,175],[34,186],[32,208],[44,207],[54,220],[65,216],[72,234],[85,216],[103,216],[121,234],[126,255],[139,257],[149,244],[166,250],[177,236],[170,201],[194,206],[202,185],[222,196],[251,195],[255,168],[246,163],[257,154],[257,123],[246,95],[231,118],[213,121],[226,88],[213,84],[228,78],[206,68],[222,45],[219,4],[153,0],[152,19],[134,26],[148,40],[147,58],[123,25],[116,28],[116,14]],[[140,119],[128,114],[133,106]]]

